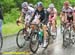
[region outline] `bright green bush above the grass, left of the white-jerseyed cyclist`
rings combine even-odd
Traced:
[[[4,23],[15,22],[19,14],[20,12],[17,8],[11,9],[10,13],[5,13],[4,15]]]

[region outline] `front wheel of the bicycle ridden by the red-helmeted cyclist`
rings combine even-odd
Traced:
[[[63,46],[67,47],[69,45],[69,36],[70,36],[70,32],[69,30],[64,30],[63,31]]]

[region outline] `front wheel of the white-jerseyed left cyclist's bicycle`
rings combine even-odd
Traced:
[[[17,34],[16,43],[19,48],[23,48],[25,46],[26,43],[25,35],[26,33],[24,32],[24,29],[21,29]]]

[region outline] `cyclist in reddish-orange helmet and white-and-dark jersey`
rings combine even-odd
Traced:
[[[68,23],[73,21],[73,8],[70,6],[69,1],[64,2],[64,6],[62,8],[62,13],[61,13],[61,21],[62,23],[67,23],[67,27]]]

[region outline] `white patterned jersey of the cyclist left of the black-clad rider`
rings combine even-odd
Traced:
[[[32,14],[34,13],[34,9],[28,6],[28,11],[22,9],[22,12],[25,14],[25,23],[29,23],[32,18]]]

